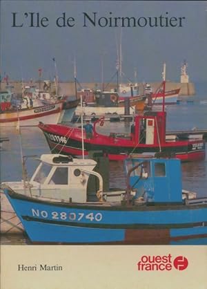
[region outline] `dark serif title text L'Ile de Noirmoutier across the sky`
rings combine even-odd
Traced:
[[[155,17],[115,17],[112,12],[108,15],[99,15],[99,12],[82,12],[83,27],[93,28],[144,28],[144,27],[184,27],[186,17],[170,16],[169,12]],[[55,19],[55,25],[59,28],[72,28],[78,21],[74,17],[68,17],[66,12],[63,12],[60,17]],[[41,15],[39,12],[12,12],[12,27],[32,27],[32,28],[46,28],[50,24],[50,19]]]

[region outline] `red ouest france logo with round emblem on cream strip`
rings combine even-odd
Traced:
[[[186,270],[188,259],[184,256],[172,257],[171,254],[160,256],[143,255],[137,263],[139,271],[170,271],[176,269],[179,271]]]

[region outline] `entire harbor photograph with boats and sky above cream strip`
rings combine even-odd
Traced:
[[[1,1],[1,245],[207,244],[206,9]]]

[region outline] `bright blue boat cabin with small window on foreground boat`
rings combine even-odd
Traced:
[[[177,158],[139,158],[124,162],[135,200],[148,203],[181,203],[181,165]],[[130,169],[135,167],[130,173]],[[130,174],[130,175],[129,175]]]

